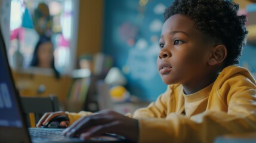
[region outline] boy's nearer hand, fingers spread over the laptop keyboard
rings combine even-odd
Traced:
[[[63,131],[66,136],[80,135],[88,139],[104,133],[116,133],[125,138],[138,141],[138,120],[116,113],[112,110],[103,110],[78,119]]]

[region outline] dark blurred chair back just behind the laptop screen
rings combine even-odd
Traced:
[[[29,127],[35,127],[44,113],[60,110],[58,98],[55,95],[48,97],[20,97],[20,100]]]

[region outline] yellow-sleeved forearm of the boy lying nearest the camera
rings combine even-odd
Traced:
[[[171,113],[166,119],[138,119],[139,142],[213,142],[229,133],[255,132],[255,114],[230,115],[209,111],[189,119]]]

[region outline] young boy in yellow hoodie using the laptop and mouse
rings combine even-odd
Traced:
[[[229,1],[176,0],[165,10],[159,41],[164,94],[130,117],[110,110],[46,113],[38,127],[66,115],[64,135],[87,139],[110,132],[135,142],[213,142],[256,131],[255,80],[235,66],[248,33],[238,9]]]

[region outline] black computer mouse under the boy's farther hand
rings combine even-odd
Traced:
[[[56,116],[53,119],[51,119],[49,122],[47,122],[44,126],[41,126],[42,128],[66,128],[60,126],[60,122],[69,120],[69,117],[61,115]]]

